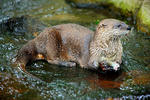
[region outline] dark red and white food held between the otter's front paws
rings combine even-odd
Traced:
[[[101,62],[99,63],[99,68],[102,70],[102,71],[119,71],[120,70],[120,67],[114,67],[108,63],[105,63],[105,62]]]

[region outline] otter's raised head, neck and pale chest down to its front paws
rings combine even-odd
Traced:
[[[117,70],[120,67],[120,56],[122,56],[120,38],[128,34],[130,30],[131,28],[122,21],[116,19],[102,20],[97,26],[94,39],[91,42],[89,65],[93,65],[92,67],[95,69],[101,66],[106,70],[111,67]]]

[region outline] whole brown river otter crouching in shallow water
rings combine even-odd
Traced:
[[[46,28],[35,39],[24,45],[17,54],[16,63],[22,68],[30,61],[45,59],[51,64],[94,68],[103,65],[117,70],[121,63],[120,38],[131,28],[116,19],[102,20],[96,32],[77,24],[61,24]],[[108,68],[109,69],[109,68]]]

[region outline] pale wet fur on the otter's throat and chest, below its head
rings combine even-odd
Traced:
[[[89,62],[97,63],[106,62],[119,62],[121,63],[122,44],[120,37],[114,36],[115,30],[112,29],[99,29],[97,27],[95,36],[90,43],[90,59]]]

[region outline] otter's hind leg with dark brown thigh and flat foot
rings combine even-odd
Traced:
[[[62,66],[76,66],[74,62],[67,62],[62,60],[62,49],[63,43],[62,38],[59,33],[59,30],[53,28],[48,31],[48,41],[46,44],[46,51],[47,51],[47,61],[51,64],[62,65]],[[67,59],[66,59],[67,60]]]

